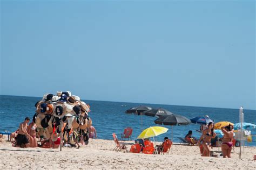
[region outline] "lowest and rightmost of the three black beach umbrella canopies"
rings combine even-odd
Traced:
[[[163,125],[188,125],[191,123],[191,121],[181,115],[166,115],[166,116],[161,116],[158,119],[154,121],[156,124],[163,124]]]

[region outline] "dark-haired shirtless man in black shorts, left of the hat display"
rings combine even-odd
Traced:
[[[19,124],[19,131],[16,137],[17,147],[29,147],[30,134],[26,131],[28,129],[29,117],[25,118],[25,121]]]

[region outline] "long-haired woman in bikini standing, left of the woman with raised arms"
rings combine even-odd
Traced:
[[[203,134],[200,137],[200,139],[198,140],[198,145],[200,145],[201,140],[203,140],[203,144],[202,144],[203,148],[204,148],[204,151],[202,154],[203,157],[210,157],[211,139],[216,136],[216,134],[213,132],[213,127],[214,127],[214,125],[212,122],[208,123],[208,128],[203,130]]]

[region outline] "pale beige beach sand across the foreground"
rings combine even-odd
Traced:
[[[125,141],[129,147],[133,141]],[[242,159],[239,148],[231,159],[201,157],[198,146],[173,145],[173,153],[149,155],[113,151],[113,140],[90,139],[89,144],[59,149],[17,148],[0,142],[0,169],[256,169],[256,147],[245,147]],[[218,154],[218,148],[213,148]]]

